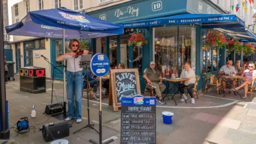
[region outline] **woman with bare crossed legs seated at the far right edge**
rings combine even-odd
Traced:
[[[255,77],[256,75],[256,70],[255,70],[255,65],[253,62],[248,63],[248,69],[246,69],[241,76],[245,76],[244,82],[239,85],[238,87],[235,87],[233,91],[238,91],[241,89],[241,87],[244,86],[244,96],[242,97],[243,99],[247,98],[247,91],[248,91],[248,85],[252,84],[252,78]]]

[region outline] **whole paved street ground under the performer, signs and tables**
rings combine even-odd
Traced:
[[[19,90],[19,76],[15,81],[6,84],[6,98],[9,102],[9,127],[13,126],[21,117],[28,117],[30,131],[17,135],[16,129],[11,129],[11,137],[17,135],[7,143],[50,143],[45,142],[42,132],[38,131],[43,124],[57,122],[58,119],[44,114],[45,106],[51,103],[51,81],[46,81],[46,92],[32,94]],[[63,82],[54,81],[53,103],[63,100]],[[240,92],[243,94],[243,92]],[[145,93],[144,95],[148,95]],[[156,131],[157,143],[255,143],[256,136],[256,93],[252,99],[241,99],[234,94],[223,94],[217,97],[217,91],[210,90],[206,94],[199,94],[196,105],[181,102],[179,95],[173,100],[167,100],[166,105],[157,103]],[[70,122],[69,136],[62,138],[69,143],[90,143],[93,139],[99,141],[99,134],[92,129],[83,129],[73,134],[87,124],[87,95],[83,95],[82,123]],[[33,105],[36,107],[36,117],[30,116]],[[91,101],[90,123],[99,130],[99,102]],[[163,123],[162,112],[174,113],[171,125]],[[121,110],[114,112],[108,106],[108,97],[102,100],[102,139],[113,138],[120,143]],[[35,128],[34,128],[35,127]],[[2,143],[4,140],[0,140]]]

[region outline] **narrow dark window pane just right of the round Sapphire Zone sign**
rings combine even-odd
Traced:
[[[117,36],[109,37],[109,61],[110,67],[117,66]]]

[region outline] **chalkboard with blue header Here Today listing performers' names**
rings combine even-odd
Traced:
[[[121,144],[156,143],[156,98],[122,97]]]

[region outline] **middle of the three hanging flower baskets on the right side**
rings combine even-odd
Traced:
[[[228,39],[226,50],[228,54],[235,50],[235,52],[240,55],[243,51],[243,45],[241,42],[238,41],[237,38]]]

